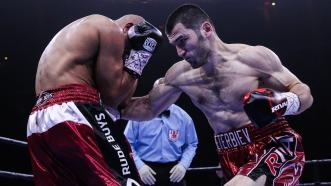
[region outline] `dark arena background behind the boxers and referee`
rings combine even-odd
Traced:
[[[213,19],[226,43],[264,45],[307,83],[313,106],[289,118],[303,137],[306,159],[331,158],[329,80],[331,63],[330,0],[2,0],[0,2],[0,136],[26,141],[26,122],[35,102],[34,79],[39,57],[47,43],[65,25],[89,15],[116,19],[134,13],[163,31],[167,15],[178,5],[193,2]],[[7,58],[6,58],[7,57]],[[154,80],[179,58],[167,41],[144,70],[136,96],[151,89]],[[216,166],[213,132],[203,114],[187,96],[177,102],[193,118],[199,147],[191,167]],[[122,122],[125,126],[125,122]],[[26,147],[0,142],[0,170],[31,174]],[[320,179],[331,181],[331,166],[320,166]],[[301,182],[313,182],[307,165]],[[316,178],[315,178],[316,179]],[[216,185],[214,172],[188,173],[188,185]],[[32,182],[0,177],[0,185],[32,185]]]

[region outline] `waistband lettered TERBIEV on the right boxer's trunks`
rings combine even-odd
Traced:
[[[217,134],[214,136],[214,139],[217,150],[222,152],[262,141],[270,135],[277,135],[288,129],[290,129],[288,122],[284,118],[280,118],[263,128],[257,128],[253,124],[248,124],[244,127]]]

